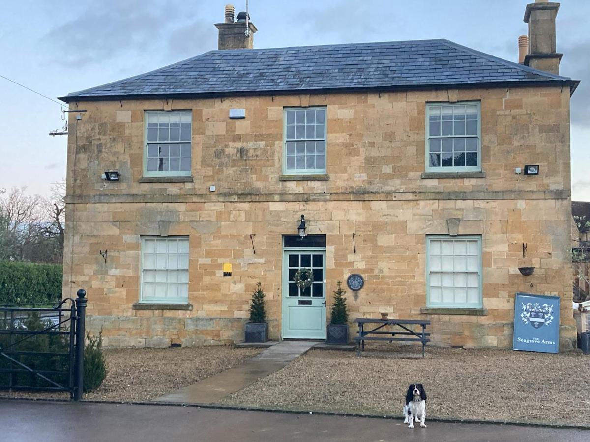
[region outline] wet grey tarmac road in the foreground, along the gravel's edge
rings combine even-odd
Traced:
[[[0,400],[0,440],[152,441],[457,441],[587,442],[590,431],[516,425],[428,422],[160,405],[35,403]]]

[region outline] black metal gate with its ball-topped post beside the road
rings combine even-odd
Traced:
[[[57,305],[0,306],[0,390],[83,393],[86,291]]]

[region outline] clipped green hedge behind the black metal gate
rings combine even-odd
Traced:
[[[58,301],[62,279],[58,264],[0,262],[0,304]]]

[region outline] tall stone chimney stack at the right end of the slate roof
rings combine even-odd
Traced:
[[[556,52],[555,43],[555,18],[559,5],[548,0],[536,0],[526,5],[524,20],[529,25],[529,51],[524,60],[526,66],[559,74],[559,62],[563,57],[563,54]]]

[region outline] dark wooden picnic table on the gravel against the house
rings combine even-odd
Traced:
[[[355,337],[358,344],[356,348],[357,356],[360,356],[360,352],[365,349],[365,341],[415,341],[422,342],[422,358],[424,358],[424,347],[427,342],[430,342],[430,333],[426,332],[426,326],[430,325],[430,321],[422,321],[421,319],[357,318],[354,322],[359,325],[358,336]],[[373,328],[365,330],[365,324]],[[382,328],[386,325],[399,327],[400,330],[398,331],[396,328],[394,331],[383,331]],[[422,331],[413,331],[411,329],[412,325],[420,325]],[[383,335],[389,336],[383,337]],[[396,337],[400,335],[403,337]]]

